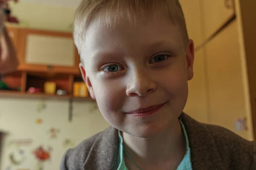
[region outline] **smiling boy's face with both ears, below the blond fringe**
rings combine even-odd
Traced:
[[[126,20],[99,27],[95,19],[86,33],[80,69],[108,123],[138,137],[177,125],[194,60],[193,42],[184,47],[180,27],[155,14],[137,27]],[[143,108],[153,111],[137,111]]]

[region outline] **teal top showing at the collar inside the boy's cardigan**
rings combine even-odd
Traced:
[[[182,127],[183,133],[185,135],[185,139],[186,139],[186,154],[183,158],[183,160],[180,162],[177,170],[192,170],[192,163],[191,163],[191,159],[190,159],[190,147],[189,147],[189,139],[186,133],[186,129],[185,126],[183,125],[181,119],[180,120],[180,125]],[[120,131],[118,131],[118,136],[119,136],[119,151],[117,154],[117,160],[118,160],[118,169],[117,170],[128,170],[128,168],[125,165],[125,159],[124,159],[124,153],[127,154],[127,156],[129,157],[129,159],[131,159],[131,157],[129,156],[129,154],[124,150],[123,147],[123,138],[122,135],[120,133]],[[133,163],[140,169],[142,170],[133,159],[131,159],[131,161],[133,161]]]

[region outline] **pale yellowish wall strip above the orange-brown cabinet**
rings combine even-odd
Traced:
[[[42,2],[10,3],[12,14],[20,20],[20,26],[38,29],[71,31],[76,8]]]

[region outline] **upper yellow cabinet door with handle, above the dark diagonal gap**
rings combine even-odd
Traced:
[[[212,36],[221,26],[233,17],[233,0],[201,0],[205,39]]]

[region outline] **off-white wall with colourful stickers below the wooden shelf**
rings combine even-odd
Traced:
[[[12,165],[9,154],[15,152],[16,146],[10,145],[10,141],[17,139],[32,139],[29,146],[21,146],[24,150],[26,160],[20,166],[12,165],[12,169],[35,170],[37,160],[32,151],[39,145],[52,146],[51,161],[44,164],[44,170],[58,170],[61,158],[67,150],[63,146],[64,139],[72,139],[77,145],[93,134],[104,130],[109,125],[102,117],[99,110],[93,110],[95,104],[91,102],[75,102],[73,121],[68,121],[69,104],[67,101],[45,101],[46,108],[38,112],[37,107],[41,100],[32,99],[6,99],[0,98],[0,130],[8,133],[3,143],[2,156],[0,159],[0,170]],[[41,118],[43,123],[37,125],[35,120]],[[57,139],[50,139],[51,127],[60,129]],[[16,154],[16,159],[20,159]]]

